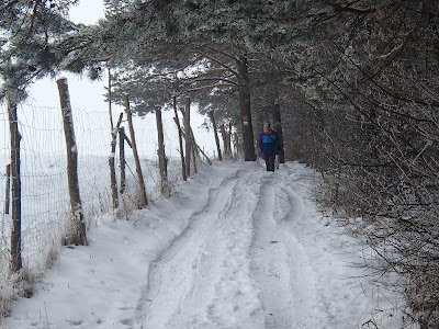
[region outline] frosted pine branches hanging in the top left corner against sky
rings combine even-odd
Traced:
[[[16,102],[34,79],[54,73],[60,58],[54,41],[75,25],[65,19],[77,1],[7,1],[0,7],[0,75],[2,92]]]

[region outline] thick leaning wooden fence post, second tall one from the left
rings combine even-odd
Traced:
[[[74,216],[74,227],[71,232],[71,243],[87,245],[86,224],[83,220],[81,197],[79,194],[78,179],[78,147],[76,145],[74,116],[71,113],[70,97],[68,92],[67,79],[60,78],[56,81],[59,91],[59,101],[63,113],[64,134],[67,146],[67,178],[70,195],[70,208]]]

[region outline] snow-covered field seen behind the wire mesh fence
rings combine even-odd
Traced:
[[[1,161],[0,161],[1,162]],[[123,216],[136,207],[137,180],[132,157],[126,159],[127,190],[121,200],[120,214]],[[147,194],[151,198],[160,195],[157,162],[154,159],[142,159]],[[178,180],[178,159],[169,162],[170,181]],[[2,167],[4,168],[5,164]],[[71,222],[69,194],[67,185],[66,159],[64,154],[33,155],[22,157],[22,258],[29,274],[38,275],[56,254],[63,236],[68,231]],[[116,159],[116,168],[119,159]],[[79,158],[79,183],[85,218],[94,225],[102,214],[112,213],[110,190],[110,169],[104,156],[81,156]],[[12,222],[4,215],[5,178],[0,178],[0,216],[2,219],[1,250],[5,254],[10,241]],[[117,182],[120,182],[117,173]],[[5,269],[4,269],[5,270]],[[2,290],[0,284],[0,290]]]

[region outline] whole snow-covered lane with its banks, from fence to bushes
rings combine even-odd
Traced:
[[[401,328],[365,247],[312,201],[315,174],[217,162],[90,246],[64,248],[2,328]]]

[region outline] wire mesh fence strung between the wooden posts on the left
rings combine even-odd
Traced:
[[[22,191],[22,261],[27,275],[34,276],[55,259],[70,229],[70,201],[67,183],[66,141],[61,111],[31,105],[18,109],[21,143]],[[74,109],[74,124],[78,146],[78,175],[82,209],[88,225],[102,214],[113,214],[110,169],[111,129],[108,111]],[[124,124],[124,123],[123,123]],[[122,125],[123,125],[122,124]],[[147,194],[160,194],[157,169],[157,131],[154,116],[135,122],[137,149],[144,172]],[[180,163],[172,116],[164,117],[165,144],[169,157],[169,181],[177,181]],[[7,109],[0,112],[0,215],[1,215],[1,281],[0,297],[8,285],[12,219],[8,214],[7,166],[11,159]],[[130,150],[125,150],[130,154]],[[133,157],[126,159],[126,191],[117,215],[126,215],[136,207],[138,181]],[[115,156],[116,168],[120,166]],[[119,181],[119,175],[117,175]]]

